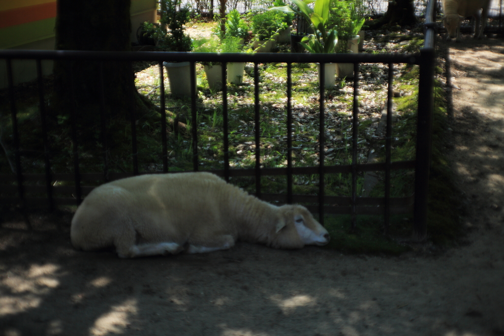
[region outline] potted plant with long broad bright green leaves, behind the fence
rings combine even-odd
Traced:
[[[309,24],[312,34],[304,36],[299,42],[306,50],[311,53],[333,53],[336,45],[338,44],[338,32],[335,28],[330,28],[329,23],[329,3],[330,0],[316,0],[311,9],[308,4],[313,0],[292,0],[296,6],[280,6],[273,7],[271,10],[281,11],[284,13],[296,13],[298,16],[303,17]],[[319,80],[320,78],[320,64]],[[336,64],[326,63],[325,66],[325,87],[333,87],[335,79]]]

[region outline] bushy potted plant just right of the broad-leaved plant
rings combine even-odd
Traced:
[[[359,1],[359,0],[357,0]],[[338,29],[339,44],[336,52],[358,53],[359,52],[359,32],[364,25],[364,17],[359,13],[356,1],[332,0],[331,3],[331,24]],[[337,65],[339,78],[352,78],[353,63],[339,63]]]

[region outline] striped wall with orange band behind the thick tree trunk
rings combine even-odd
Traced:
[[[143,22],[155,22],[156,0],[132,0],[131,40]],[[0,49],[52,50],[55,45],[56,0],[0,0]],[[36,77],[34,61],[14,61],[15,84]],[[52,72],[52,62],[43,62],[43,74]],[[0,89],[7,87],[5,60],[0,60]]]

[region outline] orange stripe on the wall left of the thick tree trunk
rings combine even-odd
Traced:
[[[56,17],[56,2],[0,12],[0,29]]]

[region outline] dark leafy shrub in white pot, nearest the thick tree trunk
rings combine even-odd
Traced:
[[[158,47],[167,51],[192,50],[191,38],[185,34],[183,27],[190,19],[189,9],[180,8],[180,4],[181,0],[160,0],[161,19],[155,35]],[[191,97],[191,63],[164,62],[163,65],[168,73],[172,96]],[[196,78],[194,83],[196,86]]]

